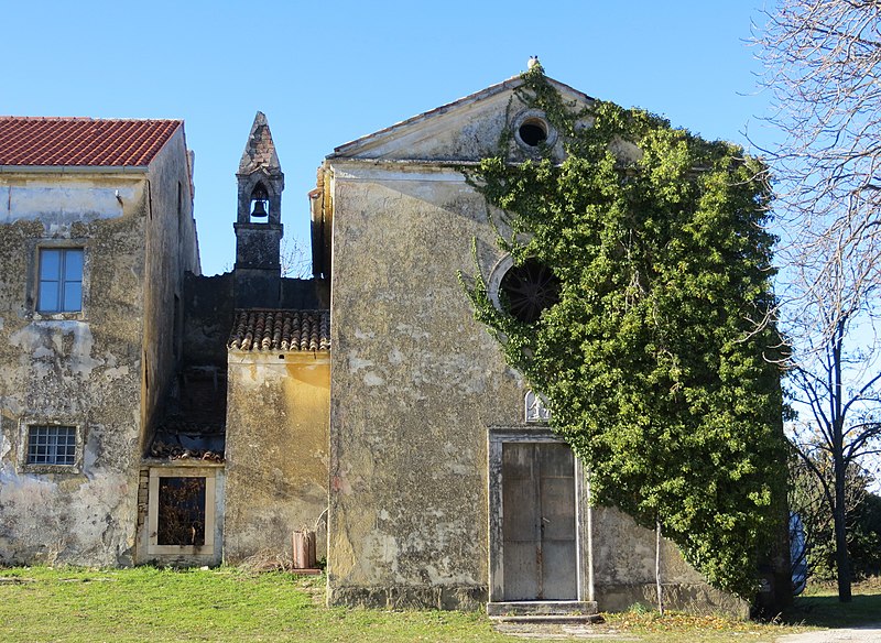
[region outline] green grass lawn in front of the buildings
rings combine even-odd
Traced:
[[[834,610],[827,599],[803,599],[819,601],[806,602],[804,613],[828,615]],[[283,573],[0,569],[0,641],[524,641],[496,632],[480,613],[328,609],[323,600],[324,578]],[[795,623],[820,624],[801,615]],[[591,641],[770,643],[802,629],[627,612],[608,614],[606,624],[595,626],[602,637]]]

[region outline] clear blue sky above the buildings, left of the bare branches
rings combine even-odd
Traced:
[[[206,274],[231,266],[236,168],[261,110],[285,173],[285,235],[335,146],[519,74],[765,141],[746,45],[762,0],[710,2],[2,1],[0,113],[181,118],[196,152]]]

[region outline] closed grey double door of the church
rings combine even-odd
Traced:
[[[504,600],[578,598],[575,461],[558,443],[502,445]]]

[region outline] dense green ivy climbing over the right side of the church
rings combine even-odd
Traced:
[[[516,101],[559,133],[512,161],[513,132],[467,178],[514,264],[559,279],[525,324],[464,279],[478,320],[547,399],[590,471],[592,501],[660,523],[716,587],[754,596],[785,495],[780,338],[766,322],[774,238],[764,165],[656,116],[567,103],[541,68]],[[629,152],[628,152],[629,150]]]

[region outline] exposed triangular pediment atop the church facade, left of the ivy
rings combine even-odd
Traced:
[[[552,78],[566,101],[592,99]],[[334,150],[328,159],[474,162],[497,153],[505,127],[523,120],[527,107],[515,89],[520,76],[361,137]]]

